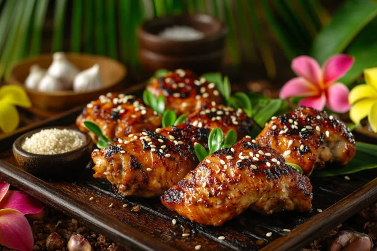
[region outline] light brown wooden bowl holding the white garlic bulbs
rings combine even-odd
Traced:
[[[100,74],[105,86],[96,91],[80,93],[74,91],[39,92],[26,88],[24,83],[29,74],[30,66],[37,64],[44,69],[49,68],[53,62],[53,54],[40,55],[18,63],[13,67],[8,82],[22,86],[33,105],[47,110],[66,110],[67,108],[96,100],[102,94],[117,92],[122,89],[122,80],[125,78],[127,71],[118,61],[89,54],[65,53],[65,55],[79,70],[85,70],[94,64],[99,64]]]

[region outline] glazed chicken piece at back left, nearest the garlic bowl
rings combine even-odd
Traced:
[[[86,129],[84,121],[96,123],[110,140],[133,132],[155,130],[161,125],[161,117],[144,106],[142,100],[116,93],[102,95],[98,100],[88,103],[76,120],[79,129],[88,132],[93,141],[97,142],[98,137]]]

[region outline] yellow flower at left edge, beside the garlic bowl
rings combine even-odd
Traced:
[[[24,89],[16,85],[0,88],[0,131],[11,132],[20,123],[20,116],[15,105],[30,107],[31,102]]]

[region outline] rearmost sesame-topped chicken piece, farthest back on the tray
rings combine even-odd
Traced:
[[[221,101],[214,83],[182,69],[153,79],[146,89],[156,97],[163,96],[166,109],[174,110],[177,115],[191,112],[199,108],[203,102]]]

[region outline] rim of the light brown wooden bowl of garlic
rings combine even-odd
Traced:
[[[101,89],[97,89],[97,90],[93,90],[93,91],[85,91],[85,92],[74,92],[73,90],[66,90],[66,91],[54,91],[54,92],[40,92],[38,90],[34,90],[34,89],[29,89],[25,86],[24,83],[20,82],[14,75],[14,69],[16,67],[19,67],[20,65],[23,65],[25,63],[29,63],[31,61],[35,61],[35,60],[38,60],[38,59],[52,59],[52,56],[54,55],[54,53],[42,53],[42,54],[39,54],[39,55],[36,55],[36,56],[31,56],[31,57],[27,57],[25,59],[23,59],[22,61],[19,61],[18,63],[14,64],[12,66],[12,70],[10,71],[10,75],[8,77],[8,79],[6,80],[7,83],[9,84],[15,84],[15,85],[18,85],[18,86],[21,86],[22,88],[24,88],[27,92],[30,92],[30,93],[33,93],[33,94],[38,94],[38,95],[48,95],[48,96],[77,96],[77,95],[81,95],[81,94],[88,94],[88,93],[95,93],[95,92],[103,92],[104,90],[107,90],[113,86],[115,86],[116,84],[118,84],[119,82],[121,82],[122,80],[125,79],[125,77],[127,76],[128,74],[128,71],[127,71],[127,67],[125,65],[123,65],[121,62],[119,62],[118,60],[115,60],[113,58],[110,58],[110,57],[107,57],[107,56],[102,56],[102,55],[95,55],[95,54],[89,54],[89,53],[76,53],[76,52],[63,52],[67,57],[68,56],[75,56],[75,57],[80,57],[80,56],[85,56],[85,57],[98,57],[98,58],[103,58],[103,59],[106,59],[108,61],[112,61],[113,63],[117,64],[120,69],[122,69],[121,71],[121,74],[120,74],[120,77],[117,81],[114,81],[114,83],[108,85],[108,86],[104,86],[102,87]],[[86,69],[85,69],[86,70]]]

